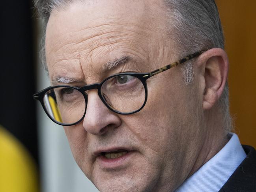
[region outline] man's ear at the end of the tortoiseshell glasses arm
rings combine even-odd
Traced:
[[[221,48],[212,48],[201,55],[205,89],[203,109],[211,109],[222,95],[228,77],[228,56]]]

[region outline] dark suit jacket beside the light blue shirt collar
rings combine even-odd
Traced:
[[[238,166],[219,192],[256,192],[256,151],[243,145],[247,157]]]

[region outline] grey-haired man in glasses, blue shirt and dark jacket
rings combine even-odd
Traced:
[[[229,115],[214,0],[36,0],[52,86],[34,95],[103,192],[255,191]]]

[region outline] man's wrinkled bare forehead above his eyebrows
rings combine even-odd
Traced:
[[[103,63],[123,56],[150,59],[165,28],[159,1],[87,2],[52,11],[46,32],[51,78],[96,75]]]

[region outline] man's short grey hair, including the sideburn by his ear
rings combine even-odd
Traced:
[[[74,0],[34,0],[35,8],[43,21],[43,38],[41,41],[41,60],[45,63],[45,30],[53,9],[59,10]],[[80,0],[82,1],[82,0]],[[179,50],[179,57],[187,56],[200,50],[211,48],[224,49],[224,35],[219,12],[214,0],[163,0],[166,4],[166,16],[174,43]],[[192,62],[183,65],[185,84],[192,84],[194,71]],[[232,130],[232,118],[229,112],[229,91],[226,83],[219,99],[224,120],[223,129]]]

